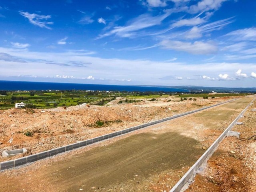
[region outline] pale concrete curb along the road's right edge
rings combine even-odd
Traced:
[[[236,119],[224,130],[224,132],[214,141],[214,143],[204,152],[204,154],[196,161],[196,163],[184,174],[184,176],[176,183],[176,185],[169,192],[180,192],[187,182],[194,176],[198,168],[212,155],[212,153],[218,147],[218,144],[224,139],[228,131],[236,124],[241,115],[252,105],[255,98],[244,108],[244,110],[236,117]]]

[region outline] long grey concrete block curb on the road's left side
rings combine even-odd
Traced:
[[[204,108],[201,108],[201,109],[196,109],[196,110],[189,111],[189,112],[182,113],[182,114],[178,114],[178,115],[175,115],[175,116],[172,116],[172,117],[168,117],[168,118],[156,120],[156,121],[153,121],[153,122],[149,122],[149,123],[146,123],[146,124],[142,124],[142,125],[139,125],[139,126],[126,128],[124,130],[120,130],[120,131],[117,131],[117,132],[113,132],[113,133],[109,133],[109,134],[106,134],[106,135],[98,136],[98,137],[88,139],[88,140],[84,140],[84,141],[81,141],[81,142],[77,142],[77,143],[74,143],[74,144],[69,144],[67,146],[62,146],[62,147],[51,149],[51,150],[48,150],[48,151],[40,152],[40,153],[33,154],[33,155],[30,155],[30,156],[18,158],[18,159],[15,159],[15,160],[1,162],[0,163],[0,171],[10,169],[10,168],[14,168],[14,167],[24,165],[24,164],[27,164],[27,163],[35,162],[35,161],[38,161],[38,160],[41,160],[41,159],[44,159],[44,158],[47,158],[47,157],[50,157],[50,156],[54,156],[56,154],[60,154],[60,153],[63,153],[63,152],[69,151],[69,150],[73,150],[73,149],[80,148],[80,147],[83,147],[83,146],[86,146],[86,145],[90,145],[90,144],[93,144],[93,143],[96,143],[96,142],[99,142],[99,141],[102,141],[102,140],[106,140],[108,138],[112,138],[112,137],[116,137],[116,136],[119,136],[119,135],[122,135],[122,134],[126,134],[128,132],[132,132],[132,131],[135,131],[135,130],[138,130],[138,129],[141,129],[141,128],[145,128],[145,127],[148,127],[148,126],[151,126],[151,125],[154,125],[154,124],[158,124],[158,123],[161,123],[161,122],[164,122],[164,121],[172,120],[172,119],[175,119],[175,118],[178,118],[178,117],[181,117],[181,116],[185,116],[185,115],[192,114],[192,113],[195,113],[195,112],[198,112],[198,111],[202,111],[202,110],[205,110],[205,109],[208,109],[208,108],[212,108],[212,107],[215,107],[215,106],[218,106],[218,105],[222,105],[222,104],[225,104],[225,103],[228,103],[228,102],[232,102],[234,100],[237,100],[237,99],[228,100],[228,101],[218,103],[218,104],[215,104],[215,105],[212,105],[212,106],[207,106],[207,107],[204,107]]]

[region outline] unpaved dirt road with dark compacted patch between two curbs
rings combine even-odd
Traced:
[[[252,98],[198,112],[16,170],[0,191],[170,190]]]

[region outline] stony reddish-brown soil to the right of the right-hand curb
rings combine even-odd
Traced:
[[[255,111],[254,111],[255,110]],[[186,192],[255,192],[256,191],[256,102],[248,108],[233,131],[240,138],[225,138],[195,177]]]

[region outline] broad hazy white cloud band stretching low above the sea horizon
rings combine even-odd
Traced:
[[[100,78],[104,78],[105,84],[151,84],[151,85],[168,85],[170,80],[176,82],[177,85],[190,84],[193,80],[194,85],[209,86],[210,80],[200,78],[193,78],[196,75],[206,75],[209,77],[218,77],[218,74],[234,74],[234,69],[242,69],[243,71],[256,72],[255,63],[243,62],[206,62],[193,60],[191,58],[189,63],[186,62],[166,62],[164,58],[159,60],[149,59],[118,59],[118,58],[101,58],[91,55],[93,52],[85,50],[67,50],[64,52],[50,50],[49,52],[33,52],[28,49],[16,48],[2,48],[0,52],[10,54],[15,59],[23,60],[24,63],[1,60],[0,69],[2,80],[11,80],[11,76],[34,75],[42,77],[42,74],[47,74],[48,77],[54,79],[38,79],[39,81],[52,81],[52,82],[85,82],[94,81],[96,84],[101,84]],[[174,56],[170,54],[170,56]],[[179,60],[182,60],[179,58]],[[73,61],[76,64],[73,64]],[[84,68],[81,64],[84,63]],[[88,64],[87,64],[88,63]],[[16,70],[13,70],[13,69]],[[48,70],[50,68],[50,70]],[[104,70],[103,70],[104,69]],[[21,73],[22,71],[22,73]],[[142,73],[143,71],[143,73]],[[65,78],[56,78],[56,74]],[[96,78],[94,74],[97,74]],[[69,78],[68,78],[69,76]],[[71,77],[74,76],[72,79]],[[88,76],[93,76],[94,80],[87,80]],[[162,78],[170,76],[170,78]],[[175,80],[174,77],[183,77],[182,80]],[[82,79],[84,77],[84,79]],[[86,79],[85,79],[86,78]],[[160,79],[162,78],[162,79]],[[115,80],[126,81],[115,81]],[[127,80],[132,79],[128,82]],[[12,78],[12,80],[18,80]],[[26,79],[29,80],[29,79]],[[220,78],[219,78],[220,80]],[[211,86],[226,86],[226,87],[253,87],[255,86],[255,79],[247,78],[244,81],[218,81],[212,80]]]

